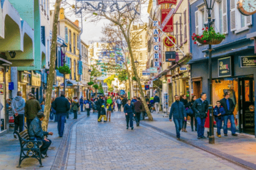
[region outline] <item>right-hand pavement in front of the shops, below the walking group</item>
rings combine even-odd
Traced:
[[[142,124],[150,125],[153,128],[161,129],[170,134],[175,135],[174,122],[169,121],[168,117],[163,117],[164,114],[153,113],[153,122],[143,121]],[[244,165],[253,167],[256,169],[256,139],[249,135],[238,134],[238,137],[233,137],[231,132],[228,132],[228,137],[223,135],[221,131],[221,138],[215,135],[215,144],[209,144],[208,139],[197,139],[197,132],[191,131],[190,124],[187,124],[188,132],[181,132],[181,139],[192,143],[195,146],[201,147],[206,150],[212,150],[215,153],[222,154],[225,157],[234,159],[235,162],[242,163]],[[214,134],[216,130],[214,129]],[[207,130],[205,129],[205,136],[207,136]]]

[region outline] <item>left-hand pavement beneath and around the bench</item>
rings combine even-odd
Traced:
[[[81,115],[78,115],[78,120],[82,116],[85,116],[86,113],[82,112]],[[74,114],[69,116],[67,123],[65,124],[65,132],[66,128],[69,124],[75,122],[73,120]],[[55,160],[56,154],[58,152],[60,143],[63,138],[59,138],[58,130],[57,130],[57,122],[50,121],[48,126],[48,131],[53,132],[53,135],[49,135],[49,139],[52,140],[52,145],[47,151],[47,155],[45,159],[42,159],[42,164],[44,167],[39,167],[39,162],[35,158],[27,158],[22,161],[21,168],[17,168],[19,164],[19,156],[20,156],[20,143],[19,139],[13,138],[13,128],[10,129],[11,132],[4,134],[0,137],[0,169],[40,169],[40,170],[49,170],[52,167],[52,164]]]

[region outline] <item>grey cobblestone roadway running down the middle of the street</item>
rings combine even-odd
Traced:
[[[124,114],[73,126],[67,169],[243,169],[143,126],[126,130]]]

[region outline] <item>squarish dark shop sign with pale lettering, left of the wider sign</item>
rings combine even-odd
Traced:
[[[232,75],[231,57],[218,59],[218,75],[219,77],[227,77]]]

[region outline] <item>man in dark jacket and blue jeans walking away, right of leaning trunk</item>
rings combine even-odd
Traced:
[[[68,99],[65,98],[65,91],[61,91],[60,97],[53,101],[52,108],[55,109],[57,114],[59,137],[62,137],[65,128],[67,112],[70,109],[70,103]]]

